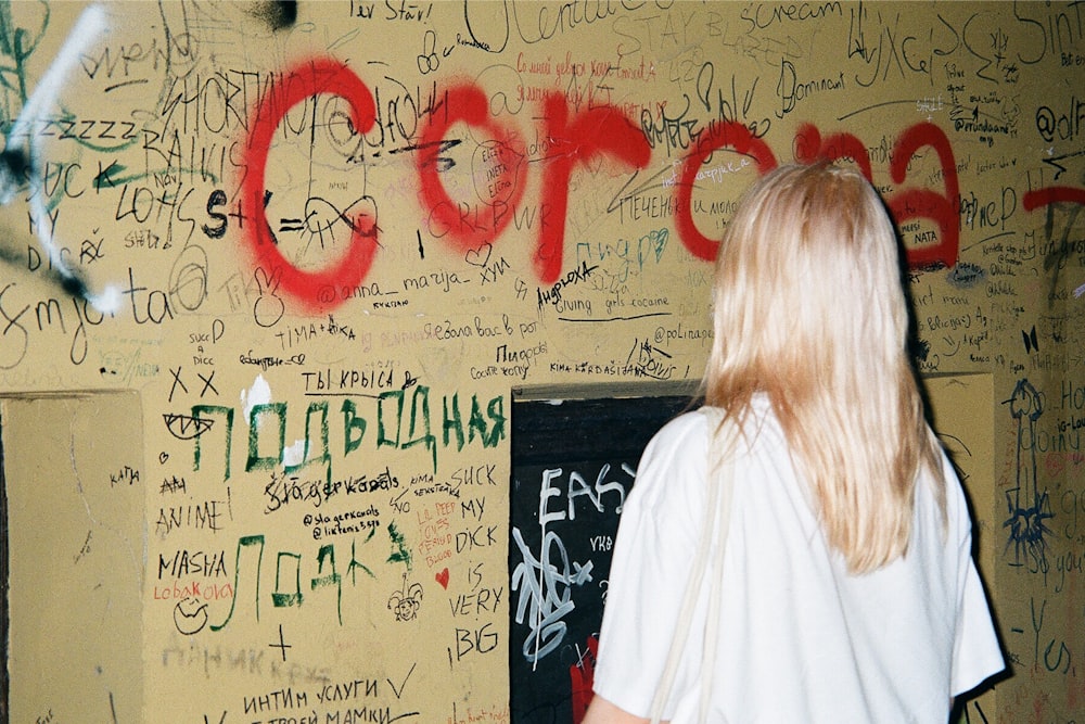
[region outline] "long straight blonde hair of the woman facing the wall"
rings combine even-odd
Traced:
[[[741,423],[766,393],[848,570],[903,556],[919,471],[943,519],[945,480],[907,354],[896,237],[870,183],[825,163],[760,179],[720,242],[713,300],[705,403]]]

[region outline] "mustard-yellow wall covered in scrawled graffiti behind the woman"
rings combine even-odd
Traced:
[[[79,567],[108,586],[139,551],[142,678],[116,710],[142,721],[509,721],[510,607],[577,588],[512,587],[513,394],[695,380],[742,191],[837,158],[899,228],[917,367],[972,381],[956,436],[993,431],[968,463],[990,485],[966,484],[1012,676],[968,713],[1081,719],[1083,15],[0,4],[9,501],[52,479],[14,468],[13,401],[124,392],[140,410],[86,403],[79,429],[111,444],[55,482],[117,496],[116,541],[59,494],[72,528],[12,557],[71,566],[75,617],[98,595]],[[66,429],[77,407],[33,420]],[[12,531],[27,510],[10,504]],[[585,646],[557,656],[575,669]],[[15,688],[20,664],[12,721],[90,711]]]

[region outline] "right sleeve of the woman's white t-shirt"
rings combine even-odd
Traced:
[[[958,608],[954,637],[949,691],[953,696],[969,691],[1006,668],[995,624],[983,592],[980,573],[972,560],[971,522],[956,473],[946,462],[947,496],[957,500],[959,544]],[[952,498],[950,498],[952,499]]]

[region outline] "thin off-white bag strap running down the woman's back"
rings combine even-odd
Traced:
[[[716,643],[719,638],[719,606],[723,593],[724,550],[727,545],[727,531],[730,526],[731,497],[735,490],[735,452],[737,449],[738,428],[733,422],[727,422],[723,411],[715,407],[702,407],[709,418],[709,491],[704,506],[704,525],[698,549],[693,557],[693,568],[686,590],[682,594],[681,608],[675,635],[671,642],[666,664],[660,678],[660,685],[652,700],[651,721],[659,724],[663,716],[663,708],[674,689],[678,664],[681,661],[689,630],[693,619],[693,609],[700,598],[704,584],[705,568],[712,558],[712,584],[709,589],[709,610],[704,624],[703,648],[701,650],[700,671],[700,706],[699,721],[707,721],[709,703],[712,698],[712,674],[715,670]],[[726,424],[725,424],[726,422]],[[715,477],[715,480],[713,480]],[[712,543],[717,541],[716,555],[712,556]]]

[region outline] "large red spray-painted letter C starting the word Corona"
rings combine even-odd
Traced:
[[[350,105],[350,120],[357,132],[368,131],[376,117],[376,106],[369,88],[346,65],[331,60],[303,63],[284,76],[282,97],[267,93],[253,110],[247,138],[248,173],[242,182],[242,198],[253,209],[255,224],[245,230],[245,240],[258,266],[279,275],[280,290],[288,292],[312,310],[320,308],[321,290],[329,287],[356,287],[369,272],[376,253],[375,224],[352,224],[350,245],[343,257],[320,271],[303,271],[279,252],[271,239],[264,211],[264,180],[271,139],[286,113],[296,104],[318,93],[341,96]]]

